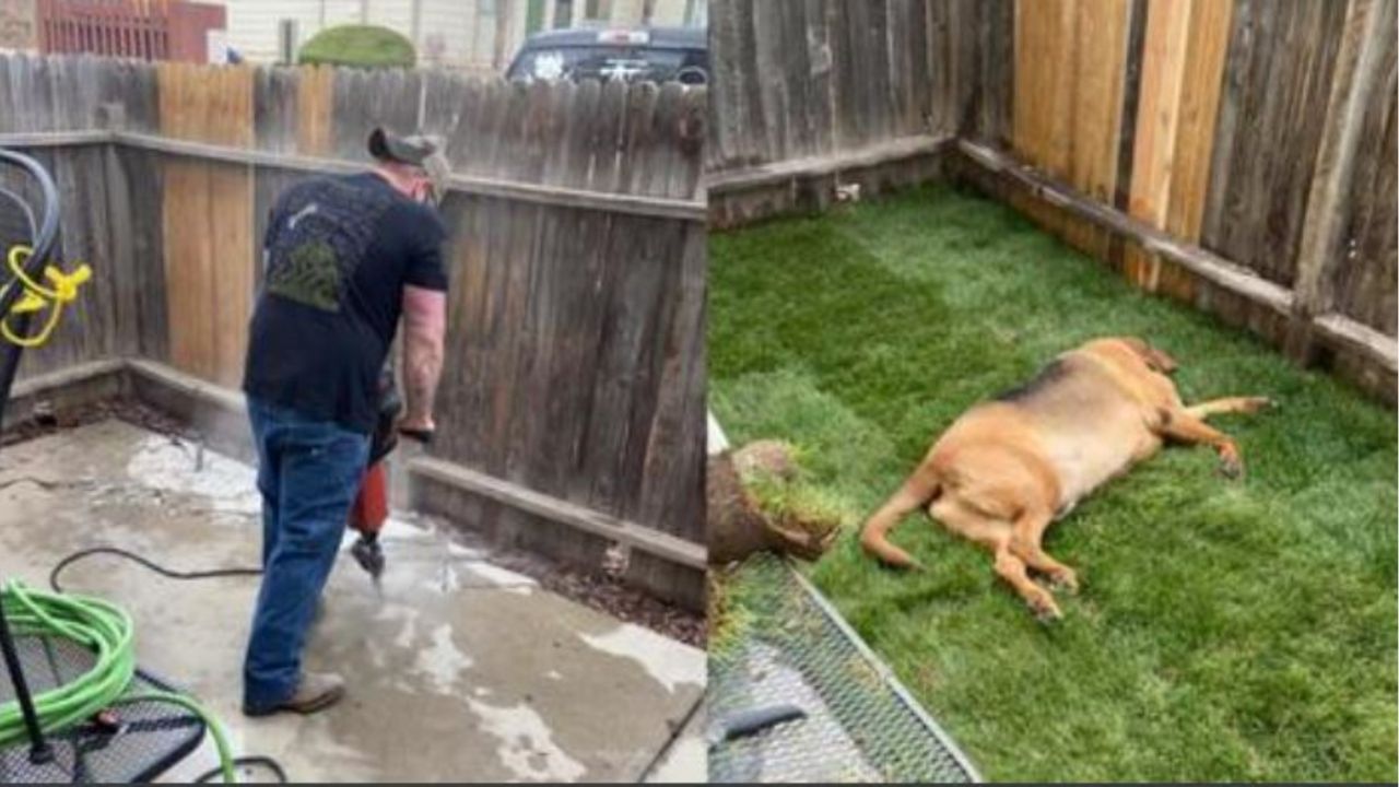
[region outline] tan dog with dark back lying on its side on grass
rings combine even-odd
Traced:
[[[1230,478],[1244,472],[1238,447],[1205,423],[1270,402],[1235,396],[1185,406],[1167,377],[1175,361],[1140,339],[1095,339],[1060,354],[1030,384],[977,405],[865,524],[860,545],[890,566],[919,567],[888,542],[915,508],[996,555],[996,573],[1041,619],[1060,618],[1053,595],[1030,580],[1079,590],[1073,569],[1041,548],[1049,522],[1108,479],[1154,455],[1165,440],[1203,443]]]

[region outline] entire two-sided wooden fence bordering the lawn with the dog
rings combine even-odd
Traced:
[[[712,24],[715,225],[860,169],[951,175],[1395,399],[1395,0],[720,0]]]

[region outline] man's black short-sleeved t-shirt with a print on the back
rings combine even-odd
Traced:
[[[243,391],[302,416],[374,430],[403,287],[446,290],[436,213],[374,174],[316,178],[267,220],[266,277]]]

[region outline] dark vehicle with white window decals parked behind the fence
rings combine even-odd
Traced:
[[[704,28],[574,28],[532,35],[505,73],[511,80],[709,81]]]

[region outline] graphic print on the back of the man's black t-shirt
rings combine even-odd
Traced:
[[[374,241],[388,193],[336,179],[297,186],[287,195],[267,245],[267,293],[320,311],[339,312],[346,283]]]

